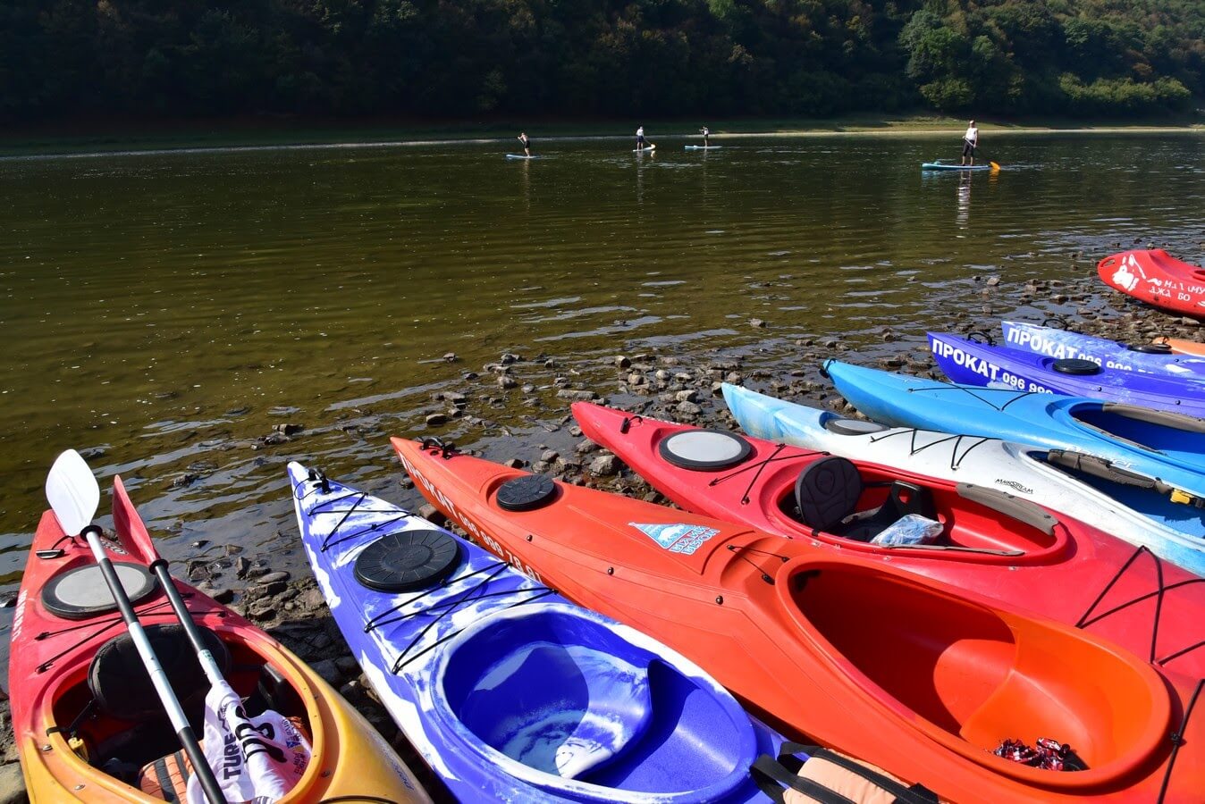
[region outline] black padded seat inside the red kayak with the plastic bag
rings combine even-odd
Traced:
[[[929,490],[905,480],[893,480],[887,498],[877,508],[858,512],[866,484],[853,461],[830,455],[810,463],[795,480],[795,503],[804,525],[856,542],[870,542],[909,514],[936,519]]]

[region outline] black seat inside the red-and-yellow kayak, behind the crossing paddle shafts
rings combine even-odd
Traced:
[[[230,669],[229,649],[208,628],[200,631],[213,660],[225,673]],[[183,626],[175,622],[152,625],[146,627],[146,634],[181,707],[186,711],[199,709],[210,685]],[[104,715],[135,723],[166,717],[129,634],[113,637],[96,651],[88,667],[88,690]]]

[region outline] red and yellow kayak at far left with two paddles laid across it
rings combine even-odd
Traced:
[[[113,567],[186,713],[199,717],[208,685],[147,572],[149,536],[120,478],[113,480],[113,527],[117,542],[105,544]],[[178,580],[176,587],[214,639],[214,656],[228,658],[225,678],[247,713],[278,711],[310,738],[308,765],[282,804],[431,800],[376,729],[301,660],[198,590]],[[114,638],[124,626],[116,609],[84,540],[67,537],[53,512],[42,514],[8,663],[13,732],[33,802],[183,800],[187,761],[146,670],[120,661]]]

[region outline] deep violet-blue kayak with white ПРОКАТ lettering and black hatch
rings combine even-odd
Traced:
[[[1047,357],[1034,351],[929,332],[937,366],[954,383],[1065,394],[1205,415],[1205,384],[1194,379],[1109,368],[1093,360]]]

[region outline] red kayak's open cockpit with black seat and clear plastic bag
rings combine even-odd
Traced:
[[[872,551],[1022,563],[1066,548],[1066,530],[1031,503],[989,489],[912,483],[892,469],[825,456],[766,484],[787,532]],[[803,527],[800,527],[803,526]]]

